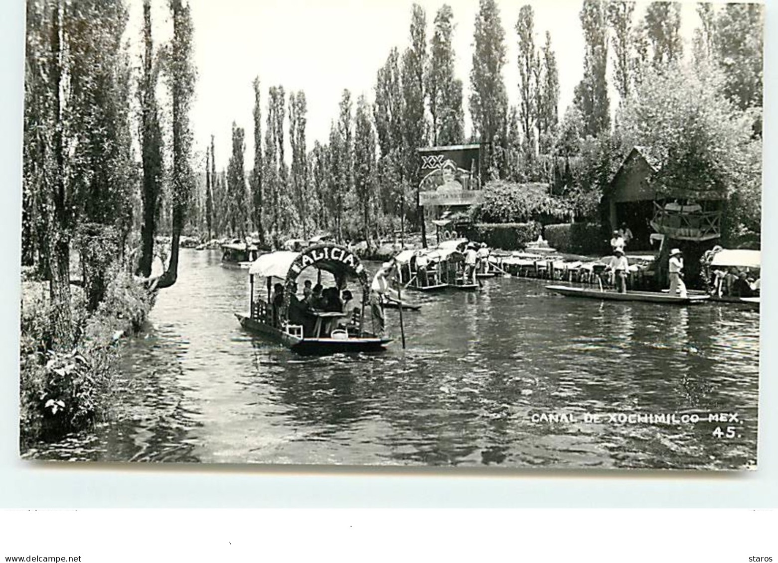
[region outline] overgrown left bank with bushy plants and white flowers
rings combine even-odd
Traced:
[[[48,283],[23,280],[20,361],[20,445],[57,440],[105,419],[114,400],[118,341],[141,328],[153,295],[126,272],[110,276],[107,294],[89,314],[72,286],[72,350],[54,352]]]

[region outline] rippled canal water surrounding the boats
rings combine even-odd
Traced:
[[[124,346],[113,419],[30,457],[755,466],[756,311],[601,303],[503,277],[407,297],[422,311],[404,314],[405,350],[387,311],[384,353],[296,356],[240,328],[246,270],[182,250],[176,285]]]

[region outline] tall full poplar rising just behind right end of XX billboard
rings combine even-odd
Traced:
[[[508,97],[503,81],[505,32],[495,0],[479,0],[473,40],[471,119],[475,135],[487,144],[489,151],[493,151],[492,144],[496,137],[506,129],[508,111]],[[487,155],[485,165],[488,169],[493,168],[490,154]]]

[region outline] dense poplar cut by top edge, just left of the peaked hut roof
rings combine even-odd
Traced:
[[[608,27],[605,22],[605,4],[601,0],[584,0],[580,12],[584,29],[586,51],[584,78],[576,86],[574,103],[584,115],[584,134],[596,137],[610,127],[608,100]]]

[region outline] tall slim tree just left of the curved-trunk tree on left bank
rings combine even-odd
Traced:
[[[159,127],[159,107],[156,102],[156,84],[159,76],[159,59],[154,54],[151,25],[151,1],[143,2],[143,40],[145,51],[142,57],[143,75],[138,84],[138,103],[141,106],[141,155],[143,168],[143,223],[141,227],[141,255],[138,273],[151,275],[154,259],[154,233],[156,217],[159,214],[159,200],[162,191],[163,158],[162,130]],[[206,165],[207,168],[207,165]],[[210,217],[209,217],[210,221]],[[211,224],[209,222],[209,232]]]

